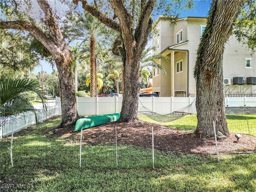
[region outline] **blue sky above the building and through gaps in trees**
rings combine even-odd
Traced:
[[[187,17],[187,16],[206,17],[210,9],[210,2],[211,1],[209,0],[195,0],[195,8],[190,11],[184,12],[180,17],[181,18]],[[43,66],[43,71],[46,71],[48,74],[52,72],[52,66],[49,63],[45,61],[40,61],[40,64],[42,64]],[[38,66],[32,71],[32,73],[38,73],[38,72],[41,72],[41,70],[42,70],[41,66]]]

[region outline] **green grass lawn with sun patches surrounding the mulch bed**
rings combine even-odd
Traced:
[[[195,116],[184,118],[168,126],[195,126]],[[53,118],[15,134],[14,168],[10,155],[1,151],[1,181],[24,184],[30,187],[25,191],[33,192],[256,191],[256,154],[221,154],[218,162],[214,155],[155,150],[153,169],[150,149],[118,145],[116,166],[116,146],[86,145],[80,168],[79,140],[57,139],[44,132],[60,121]],[[236,118],[228,116],[228,121]]]

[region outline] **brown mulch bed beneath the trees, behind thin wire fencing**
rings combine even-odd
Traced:
[[[162,150],[180,151],[195,154],[216,154],[214,138],[200,138],[189,131],[169,128],[161,124],[148,122],[117,123],[112,122],[92,128],[84,129],[82,143],[88,145],[128,144],[152,148],[152,126],[154,127],[154,148]],[[183,134],[182,134],[183,133]],[[55,134],[48,132],[49,136],[61,138],[68,142],[80,142],[80,131],[73,129],[56,129]],[[241,134],[237,141],[235,133],[230,133],[226,139],[218,140],[220,154],[250,153],[256,150],[256,138]]]

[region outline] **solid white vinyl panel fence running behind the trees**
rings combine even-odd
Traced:
[[[138,111],[142,106],[158,114],[169,114],[192,103],[192,112],[196,114],[194,97],[139,97]],[[122,109],[122,97],[77,97],[78,114],[81,116],[119,113]],[[56,97],[57,115],[61,115],[60,98]],[[256,107],[256,97],[226,97],[226,106]]]

